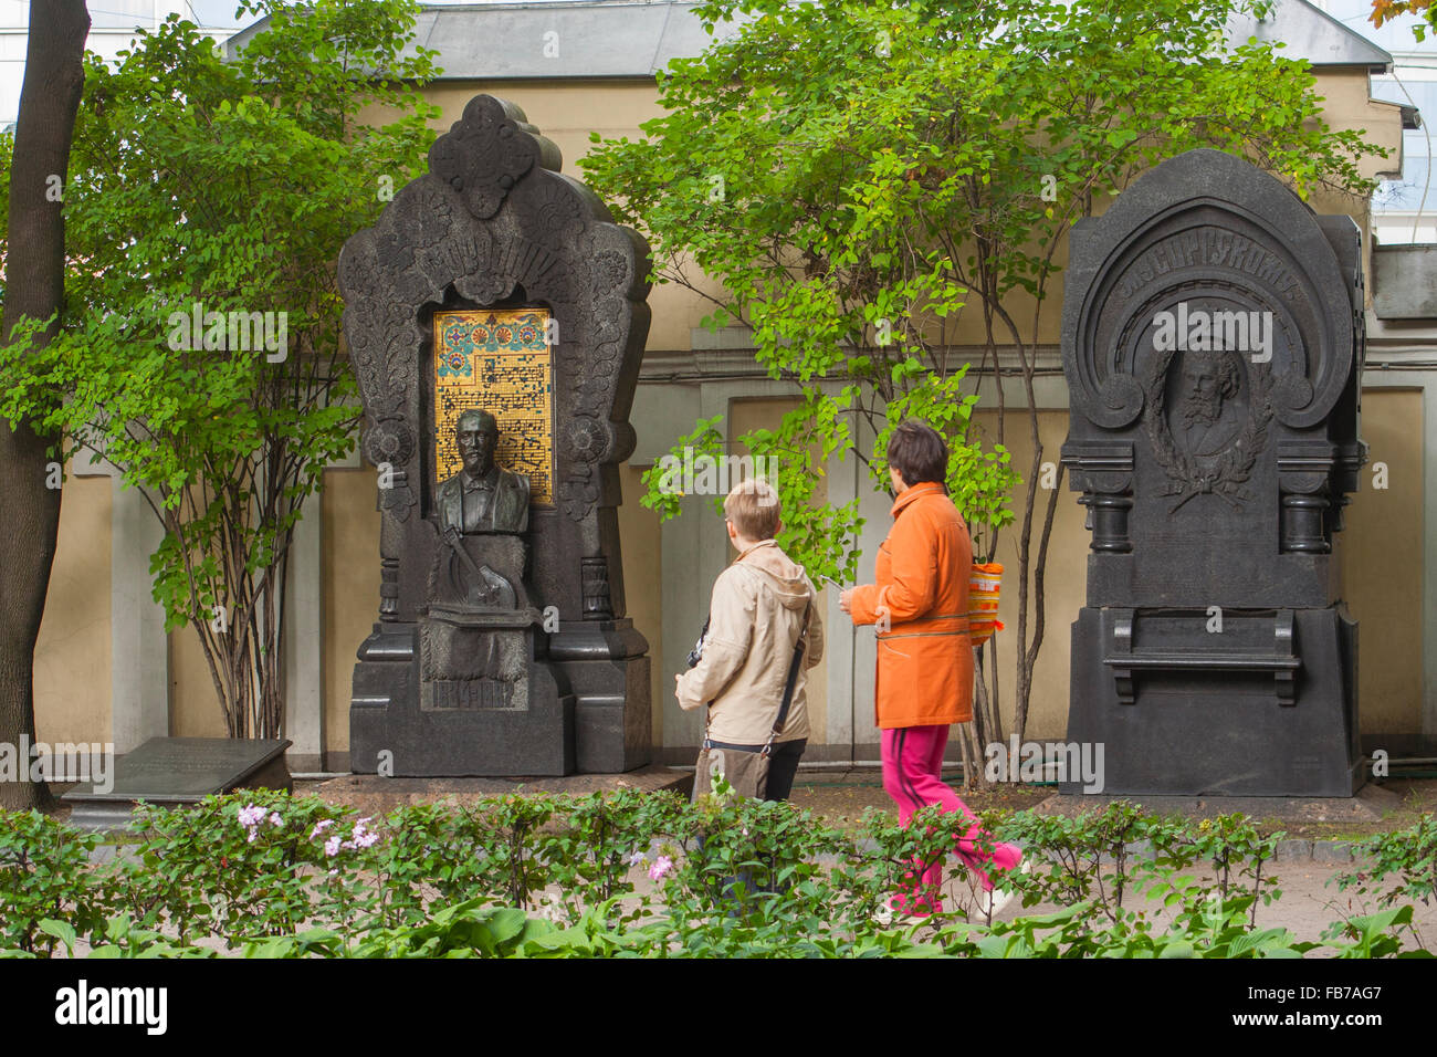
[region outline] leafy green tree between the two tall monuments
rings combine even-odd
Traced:
[[[1223,42],[1234,12],[1269,6],[711,0],[703,20],[736,23],[731,36],[660,75],[667,112],[644,139],[599,142],[583,161],[650,237],[657,280],[711,299],[714,324],[750,328],[759,362],[793,383],[798,410],[741,440],[779,459],[783,545],[812,572],[851,577],[862,522],[855,503],[795,509],[822,472],[810,450],[852,453],[881,480],[897,418],[921,416],[954,440],[948,485],[976,552],[992,555],[1016,525],[1019,568],[1004,591],[1017,594],[1019,735],[1062,485],[1039,489],[1055,453],[1039,437],[1035,378],[1068,230],[1193,147],[1244,155],[1303,197],[1369,191],[1357,163],[1372,148],[1325,125],[1306,65]],[[984,383],[997,406],[992,450],[970,417]],[[1016,516],[1003,449],[1015,429],[1032,446]],[[721,440],[707,420],[675,452]],[[644,502],[677,513],[664,467],[645,480]],[[1003,739],[996,649],[977,745]]]

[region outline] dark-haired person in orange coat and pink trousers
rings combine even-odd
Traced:
[[[973,719],[973,544],[943,483],[947,469],[948,447],[931,426],[910,420],[894,430],[888,440],[888,473],[898,495],[894,526],[878,548],[877,582],[844,591],[839,608],[855,626],[877,627],[874,712],[882,732],[884,788],[898,804],[898,820],[907,825],[928,804],[956,811],[966,824],[957,854],[977,873],[983,909],[993,912],[1010,896],[994,896],[993,880],[979,864],[1012,870],[1023,853],[1015,844],[979,851],[974,841],[984,834],[977,818],[941,778],[948,725]],[[900,896],[895,909],[940,910],[941,880],[941,864],[928,864],[921,887]]]

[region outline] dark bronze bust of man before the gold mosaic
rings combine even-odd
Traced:
[[[463,469],[438,486],[440,534],[448,529],[520,534],[529,528],[529,477],[494,462],[499,423],[489,411],[464,411],[454,426]]]

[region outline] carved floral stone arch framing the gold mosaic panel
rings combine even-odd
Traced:
[[[430,173],[346,243],[339,262],[345,332],[368,434],[381,421],[415,421],[421,414],[415,394],[425,318],[450,292],[487,306],[522,289],[546,306],[559,334],[553,368],[560,506],[581,525],[589,549],[602,552],[593,515],[618,500],[605,467],[632,450],[624,418],[648,328],[648,247],[614,224],[589,188],[550,168],[558,163],[558,150],[517,106],[473,99],[430,150]],[[391,447],[394,431],[391,424],[379,433]],[[372,449],[366,443],[366,457]],[[420,499],[415,485],[427,485],[418,473],[421,454],[411,454],[408,502]],[[389,509],[402,518],[394,499]]]

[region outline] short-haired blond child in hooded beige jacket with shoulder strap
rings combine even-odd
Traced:
[[[823,657],[818,592],[779,548],[779,495],[766,480],[740,482],[724,500],[729,539],[739,551],[714,581],[703,657],[677,676],[678,703],[708,706],[714,748],[756,752],[773,731],[793,646],[808,608],[808,644],[783,729],[773,739],[764,800],[787,800],[808,745],[808,669]]]

